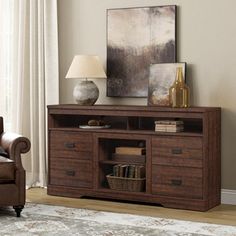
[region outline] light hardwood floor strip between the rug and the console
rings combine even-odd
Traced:
[[[47,195],[47,190],[43,188],[31,188],[27,190],[26,201],[49,205],[60,205],[66,207],[86,208],[91,210],[130,213],[236,226],[236,206],[233,205],[220,205],[207,212],[196,212],[168,209],[155,205],[143,205],[137,203],[49,196]]]

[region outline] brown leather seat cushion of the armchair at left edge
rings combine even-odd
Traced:
[[[14,182],[15,168],[13,160],[0,156],[0,184]]]

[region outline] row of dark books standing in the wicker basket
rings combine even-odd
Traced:
[[[113,176],[124,178],[144,178],[145,167],[143,165],[117,164],[113,166]]]

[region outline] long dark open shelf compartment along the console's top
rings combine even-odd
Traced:
[[[130,131],[130,132],[153,132],[155,133],[155,122],[163,120],[181,120],[183,121],[184,133],[194,133],[201,135],[203,133],[203,119],[202,117],[188,117],[184,118],[180,115],[174,117],[162,116],[112,116],[112,115],[58,115],[52,114],[54,128],[78,128],[80,126],[88,125],[89,121],[102,121],[103,124],[108,125],[112,130]],[[92,128],[92,127],[91,127]]]

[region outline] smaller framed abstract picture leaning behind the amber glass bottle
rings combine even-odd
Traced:
[[[175,81],[178,67],[182,67],[183,78],[186,82],[186,62],[150,65],[148,105],[170,106],[169,88]]]

